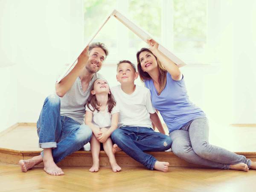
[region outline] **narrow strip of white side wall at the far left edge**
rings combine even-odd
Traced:
[[[0,131],[15,124],[17,113],[17,65],[12,3],[0,1]]]

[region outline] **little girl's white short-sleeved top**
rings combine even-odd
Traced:
[[[93,109],[93,107],[89,104],[90,108]],[[93,113],[93,119],[92,123],[99,128],[110,128],[111,127],[111,117],[114,113],[119,113],[118,106],[114,106],[111,113],[108,112],[108,108],[105,109],[105,111],[97,111],[96,109],[94,111],[91,111],[90,108],[86,105],[85,110],[90,111]]]

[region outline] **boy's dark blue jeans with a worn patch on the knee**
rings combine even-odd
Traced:
[[[123,126],[113,131],[111,138],[126,154],[151,170],[157,159],[143,151],[166,151],[172,145],[170,137],[147,127]]]

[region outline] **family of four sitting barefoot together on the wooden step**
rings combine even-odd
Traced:
[[[121,170],[114,155],[120,150],[150,170],[167,172],[168,162],[145,151],[166,151],[171,146],[174,154],[189,163],[245,172],[256,169],[256,162],[243,155],[209,144],[206,114],[189,101],[180,69],[158,50],[154,40],[148,40],[148,45],[149,49],[137,52],[138,72],[130,61],[117,64],[120,84],[111,88],[97,73],[108,49],[102,43],[86,47],[73,70],[55,84],[56,94],[45,99],[37,122],[39,147],[44,151],[20,160],[21,170],[26,172],[44,162],[48,174],[64,175],[56,163],[88,142],[93,157],[90,172],[99,171],[101,143],[113,172]],[[145,87],[134,84],[138,76]]]

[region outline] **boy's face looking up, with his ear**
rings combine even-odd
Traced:
[[[134,68],[131,67],[128,63],[121,63],[117,68],[116,79],[121,84],[134,84],[134,80],[138,78],[138,73],[134,71]]]

